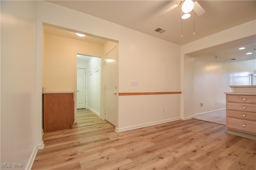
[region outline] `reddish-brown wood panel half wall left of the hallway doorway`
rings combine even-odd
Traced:
[[[74,123],[74,93],[43,93],[43,129],[54,132]]]

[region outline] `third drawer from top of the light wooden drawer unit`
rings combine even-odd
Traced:
[[[227,110],[226,116],[256,121],[256,113],[253,112]]]

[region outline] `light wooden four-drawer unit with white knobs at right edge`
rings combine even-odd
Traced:
[[[256,140],[256,85],[230,86],[226,94],[227,133]]]

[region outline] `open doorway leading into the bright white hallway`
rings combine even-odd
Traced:
[[[76,109],[89,109],[100,117],[101,77],[100,57],[76,54]]]

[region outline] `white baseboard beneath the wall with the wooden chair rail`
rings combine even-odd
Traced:
[[[143,128],[143,127],[149,127],[149,126],[152,126],[152,125],[158,125],[158,124],[172,122],[172,121],[178,121],[178,120],[180,120],[180,117],[176,117],[176,118],[173,118],[173,119],[166,119],[166,120],[163,120],[163,121],[145,123],[145,124],[141,124],[141,125],[135,125],[135,126],[131,126],[131,127],[124,127],[124,128],[117,128],[116,127],[115,131],[116,132],[124,132],[124,131],[128,131],[128,130]]]

